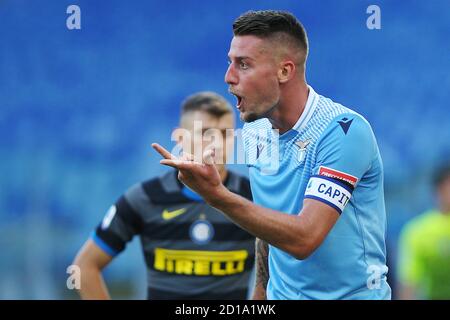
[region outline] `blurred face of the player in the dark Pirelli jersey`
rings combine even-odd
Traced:
[[[214,147],[217,166],[219,168],[224,166],[227,149],[232,150],[234,143],[233,114],[225,114],[218,118],[203,111],[189,112],[181,119],[181,130],[183,129],[189,134],[179,135],[182,138],[178,141],[182,143],[185,152],[201,157],[207,148]]]

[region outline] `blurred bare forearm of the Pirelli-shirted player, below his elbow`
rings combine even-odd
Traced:
[[[101,271],[94,266],[81,266],[81,288],[78,290],[83,300],[109,300],[108,289]]]

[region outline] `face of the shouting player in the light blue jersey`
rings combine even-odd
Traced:
[[[255,36],[235,36],[231,41],[225,82],[245,122],[266,117],[280,100],[274,50],[268,40]]]

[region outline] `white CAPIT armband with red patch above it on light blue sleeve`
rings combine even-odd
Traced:
[[[323,174],[325,171],[322,168],[327,169],[327,174]],[[319,174],[309,179],[305,198],[326,203],[341,214],[352,196],[357,178],[339,171],[335,171],[333,175],[338,173],[341,175],[341,178],[331,176],[330,170],[335,171],[326,167],[320,167]],[[345,177],[345,179],[342,179],[342,177]]]

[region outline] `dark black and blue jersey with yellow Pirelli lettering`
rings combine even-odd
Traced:
[[[247,178],[225,186],[252,198]],[[149,299],[246,299],[255,238],[181,184],[177,172],[131,187],[108,210],[93,240],[111,256],[139,236]]]

